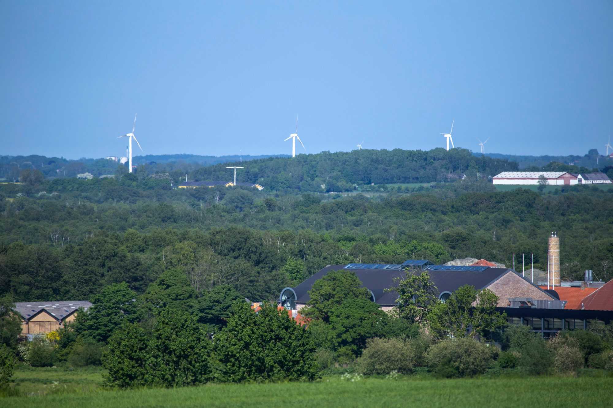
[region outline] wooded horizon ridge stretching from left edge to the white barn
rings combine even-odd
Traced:
[[[145,156],[148,157],[148,156]],[[247,156],[245,156],[247,157]],[[227,156],[230,159],[231,156]],[[351,152],[322,152],[299,154],[293,159],[268,157],[249,162],[228,161],[222,158],[207,162],[142,162],[139,158],[139,177],[168,175],[175,184],[185,181],[229,181],[233,173],[226,165],[243,165],[238,170],[237,181],[262,184],[273,191],[330,192],[353,191],[365,184],[430,183],[449,181],[466,174],[472,179],[495,176],[505,170],[517,170],[517,163],[481,156],[474,157],[466,149],[446,151],[436,148],[421,150],[354,150]],[[217,164],[216,164],[217,163]],[[213,165],[214,164],[214,165]],[[66,161],[44,156],[0,157],[0,178],[16,181],[24,178],[23,172],[41,172],[47,178],[74,178],[78,174],[91,173],[121,176],[127,165],[118,165],[106,159]]]

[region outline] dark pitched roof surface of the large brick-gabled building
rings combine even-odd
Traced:
[[[311,290],[313,284],[318,279],[323,278],[330,271],[338,271],[345,269],[345,265],[328,265],[318,273],[314,274],[306,281],[297,285],[294,288],[296,292],[297,303],[307,303],[310,300],[308,291]],[[404,278],[405,271],[403,270],[386,270],[386,269],[351,269],[354,272],[364,287],[369,289],[375,295],[375,301],[378,304],[392,305],[395,304],[398,298],[398,293],[391,291],[386,292],[387,288],[396,286],[394,279]],[[504,274],[512,272],[509,268],[485,268],[484,270],[428,270],[430,279],[436,285],[439,293],[454,292],[462,285],[473,285],[476,289],[487,287],[492,282]],[[419,271],[417,273],[420,273]],[[529,283],[529,282],[528,282]]]

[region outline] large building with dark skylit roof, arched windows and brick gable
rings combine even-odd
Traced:
[[[563,307],[555,293],[548,292],[522,278],[511,268],[492,268],[490,266],[449,266],[432,265],[428,260],[407,260],[401,265],[384,265],[377,263],[349,263],[348,265],[328,265],[318,273],[296,287],[286,287],[281,290],[280,305],[291,310],[300,310],[310,300],[308,291],[318,279],[323,278],[330,271],[346,270],[356,273],[371,294],[373,302],[379,304],[383,310],[391,310],[398,298],[394,290],[396,279],[406,276],[405,269],[412,269],[414,273],[427,271],[430,279],[438,289],[437,296],[445,301],[454,290],[462,285],[472,285],[476,289],[490,289],[500,298],[498,306],[501,308],[511,305],[510,299],[530,298],[535,303],[549,302]]]

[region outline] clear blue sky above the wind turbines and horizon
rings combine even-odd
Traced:
[[[601,153],[613,2],[0,2],[0,154]],[[302,149],[302,148],[301,148]]]

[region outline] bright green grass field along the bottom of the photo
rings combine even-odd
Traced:
[[[94,391],[0,399],[3,407],[556,407],[610,406],[610,378],[364,379],[331,377],[313,383],[211,384],[203,387]]]

